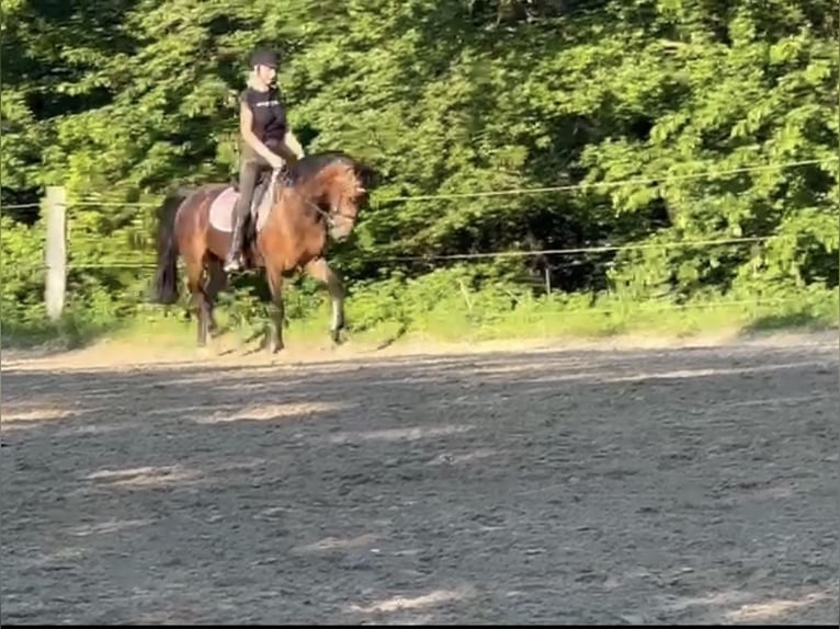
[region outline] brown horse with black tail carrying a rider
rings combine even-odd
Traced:
[[[330,335],[334,343],[339,342],[344,327],[344,298],[341,282],[325,258],[328,237],[341,242],[350,236],[368,198],[372,174],[368,167],[342,152],[313,153],[288,168],[286,185],[268,185],[259,218],[251,213],[245,258],[248,268],[264,268],[269,282],[270,352],[283,348],[283,278],[300,268],[326,284],[332,304]],[[204,184],[182,193],[183,201],[171,221],[161,222],[159,230],[154,300],[178,300],[180,254],[197,310],[200,346],[206,344],[207,333],[215,329],[214,301],[227,281],[223,261],[230,244],[236,195],[228,184]]]

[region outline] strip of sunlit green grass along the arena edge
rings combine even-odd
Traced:
[[[290,297],[294,302],[294,296]],[[329,343],[329,304],[320,299],[304,316],[293,313],[284,330],[288,347],[322,347]],[[840,302],[837,290],[804,291],[775,300],[708,298],[684,306],[661,301],[634,302],[605,297],[588,304],[581,296],[519,298],[498,293],[457,294],[429,300],[354,299],[347,302],[349,338],[360,347],[385,347],[401,343],[479,343],[499,340],[604,339],[617,335],[691,338],[707,333],[756,333],[764,331],[817,331],[836,328]],[[3,324],[3,347],[41,346],[52,351],[73,350],[109,340],[148,344],[170,350],[195,348],[195,320],[182,309],[168,311],[144,306],[124,320],[95,312],[67,314],[58,323],[36,320],[27,325]],[[253,310],[252,310],[253,313]],[[242,318],[236,308],[217,309],[219,324],[227,329],[225,343],[256,346],[264,321],[252,314]]]

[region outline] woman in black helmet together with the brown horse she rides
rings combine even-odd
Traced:
[[[213,324],[215,297],[227,283],[226,272],[242,267],[248,249],[254,268],[264,270],[273,308],[268,347],[283,348],[283,279],[302,270],[326,285],[332,301],[330,336],[340,341],[344,328],[343,288],[327,263],[330,239],[345,240],[366,204],[373,170],[342,151],[304,157],[288,129],[280,92],[271,85],[276,77],[276,55],[258,50],[251,56],[249,87],[240,95],[242,157],[239,170],[239,199],[232,233],[214,222],[213,207],[232,192],[228,183],[205,183],[178,192],[164,205],[177,209],[161,214],[158,270],[154,300],[173,304],[178,299],[178,259],[184,262],[186,285],[195,299],[198,345],[207,342]],[[243,224],[250,213],[257,180],[266,168],[288,162],[294,185],[266,191],[268,210],[256,230],[253,243],[243,247]],[[222,202],[223,204],[226,202]],[[219,210],[224,215],[224,209]]]

